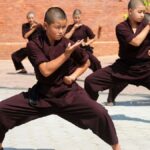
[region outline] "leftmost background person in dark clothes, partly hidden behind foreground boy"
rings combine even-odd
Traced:
[[[23,38],[28,39],[30,41],[36,38],[42,32],[43,27],[35,21],[34,12],[28,12],[26,17],[28,22],[22,25],[22,36]],[[11,55],[11,57],[15,69],[19,70],[18,73],[27,73],[27,70],[22,64],[22,60],[24,60],[27,57],[27,48],[24,47],[17,50]]]

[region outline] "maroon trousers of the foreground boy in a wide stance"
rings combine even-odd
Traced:
[[[83,129],[93,133],[106,143],[118,143],[114,124],[107,110],[91,100],[79,88],[65,94],[62,98],[41,98],[36,107],[29,105],[28,93],[21,93],[0,102],[0,142],[5,133],[18,125],[50,114],[56,114]]]

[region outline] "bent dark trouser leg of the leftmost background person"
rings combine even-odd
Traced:
[[[12,61],[14,63],[16,70],[24,69],[24,66],[21,62],[27,56],[28,56],[28,54],[27,54],[27,48],[26,47],[19,49],[18,51],[14,52],[11,55],[11,58],[12,58]]]

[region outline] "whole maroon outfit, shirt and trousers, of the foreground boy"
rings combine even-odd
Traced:
[[[91,129],[110,145],[118,143],[116,131],[107,110],[89,98],[76,82],[66,85],[63,77],[70,75],[87,60],[88,55],[80,47],[52,75],[44,77],[39,65],[64,53],[70,40],[62,38],[51,45],[45,33],[28,43],[29,59],[35,69],[37,104],[29,104],[30,91],[0,102],[0,142],[7,130],[25,122],[50,114],[74,123],[83,129]],[[33,89],[33,88],[32,88]],[[31,89],[31,90],[32,90]]]

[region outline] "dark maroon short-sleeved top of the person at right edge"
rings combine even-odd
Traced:
[[[142,44],[138,47],[132,46],[129,42],[138,35],[147,22],[143,20],[133,33],[129,20],[120,23],[116,27],[116,35],[119,41],[120,59],[112,65],[113,76],[126,81],[142,81],[150,76],[150,34],[147,35]]]

